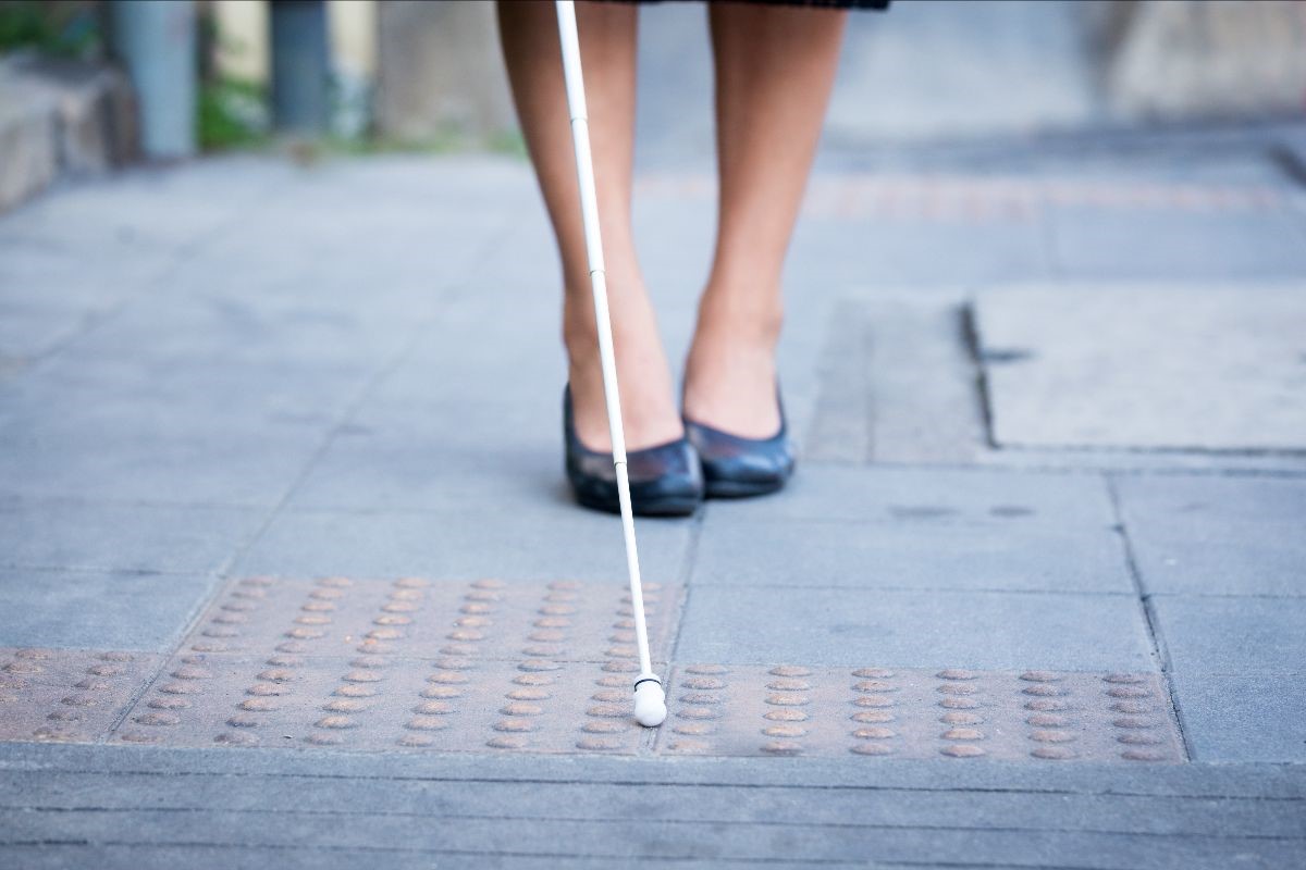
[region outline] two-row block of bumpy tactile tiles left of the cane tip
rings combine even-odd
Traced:
[[[678,590],[646,588],[662,656]],[[635,753],[624,587],[246,578],[115,736],[202,746]]]

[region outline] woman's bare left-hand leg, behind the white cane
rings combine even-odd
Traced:
[[[679,438],[682,427],[631,232],[637,9],[577,3],[576,17],[622,416],[627,446],[640,449]],[[576,429],[585,445],[607,450],[611,441],[554,4],[500,3],[499,35],[517,115],[562,253],[563,340]]]

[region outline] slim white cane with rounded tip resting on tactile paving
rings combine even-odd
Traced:
[[[640,556],[635,547],[631,480],[626,471],[626,436],[622,430],[622,399],[616,390],[616,360],[613,353],[613,325],[607,314],[603,241],[598,228],[594,164],[589,154],[589,119],[585,112],[585,82],[580,70],[576,4],[572,0],[558,0],[558,39],[563,48],[563,78],[567,81],[567,108],[571,112],[572,145],[576,149],[576,179],[580,184],[580,214],[585,227],[585,256],[589,260],[589,282],[594,291],[598,357],[603,368],[603,398],[607,403],[607,428],[613,437],[613,466],[616,471],[616,494],[622,503],[622,531],[626,533],[626,567],[631,577],[635,640],[640,652],[640,674],[635,678],[635,719],[641,725],[654,728],[666,719],[666,693],[662,690],[662,681],[653,673],[653,663],[649,660],[649,633],[644,622]]]

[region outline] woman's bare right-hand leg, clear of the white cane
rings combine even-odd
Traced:
[[[780,428],[780,273],[835,82],[845,12],[712,4],[721,206],[684,378],[691,420]]]

